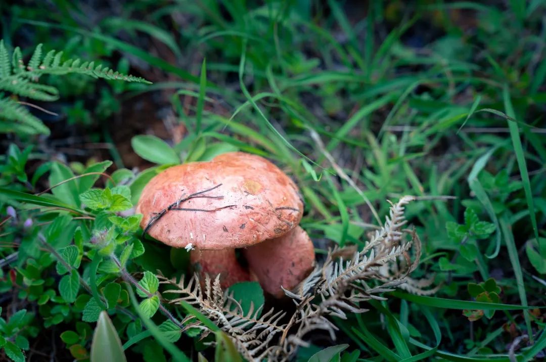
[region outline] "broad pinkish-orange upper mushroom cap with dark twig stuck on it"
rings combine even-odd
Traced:
[[[217,185],[221,186],[164,211]],[[167,245],[220,250],[287,233],[299,223],[303,204],[294,182],[276,165],[249,153],[230,152],[158,174],[141,193],[136,212],[144,215],[143,229],[156,213],[164,212],[147,232]]]

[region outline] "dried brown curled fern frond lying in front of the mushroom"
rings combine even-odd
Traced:
[[[432,285],[431,280],[416,281],[408,277],[417,268],[420,257],[417,234],[403,228],[406,224],[404,207],[412,200],[413,197],[406,196],[396,204],[391,203],[383,227],[377,230],[363,250],[336,247],[298,287],[283,289],[295,305],[295,312],[288,321],[286,312],[282,311],[270,310],[260,316],[261,308],[254,310],[251,307],[244,313],[238,300],[222,292],[219,276],[214,281],[206,276],[204,290],[197,275],[187,284],[183,278],[180,282],[161,276],[160,279],[162,283],[175,287],[165,293],[180,295],[171,303],[184,300],[198,308],[233,340],[245,359],[288,360],[297,348],[307,345],[305,336],[311,331],[324,330],[332,340],[336,339],[337,327],[329,317],[346,319],[347,313],[365,312],[360,302],[384,299],[380,294],[394,288],[423,292],[423,288]],[[342,256],[347,255],[350,257],[343,259]],[[199,325],[193,316],[188,316],[185,323],[192,327]],[[206,334],[206,328],[200,327]]]

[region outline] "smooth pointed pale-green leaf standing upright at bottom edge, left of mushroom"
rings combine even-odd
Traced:
[[[124,362],[127,359],[114,324],[110,321],[108,313],[102,311],[91,342],[91,362],[105,361]]]

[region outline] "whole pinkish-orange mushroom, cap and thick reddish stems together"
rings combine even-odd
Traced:
[[[303,212],[298,188],[260,156],[229,152],[168,168],[143,189],[136,212],[144,215],[145,232],[193,249],[197,271],[220,274],[223,287],[252,278],[282,296],[282,283],[293,288],[314,265],[312,242],[296,228]],[[245,248],[249,271],[237,262],[236,248]],[[267,259],[276,265],[264,267]]]

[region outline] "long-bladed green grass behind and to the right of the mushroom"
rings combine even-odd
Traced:
[[[44,6],[47,21],[31,4],[3,5],[6,43],[23,49],[73,44],[67,57],[100,58],[106,66],[126,59],[133,74],[154,82],[97,96],[110,87],[70,79],[82,91],[61,88],[67,107],[85,99],[94,120],[70,129],[87,142],[111,142],[116,150],[119,145],[104,140],[100,129],[115,136],[120,127],[146,129],[133,124],[138,122],[156,126],[148,130],[162,127],[155,111],[121,121],[93,112],[116,99],[121,114],[135,115],[146,104],[173,112],[169,119],[187,134],[178,142],[169,133],[163,138],[182,161],[229,147],[266,156],[301,189],[302,226],[318,253],[333,244],[361,245],[372,230],[366,225],[377,223],[375,210],[381,218],[387,213],[386,199],[422,198],[407,207],[423,240],[422,263],[412,277],[434,276],[438,292],[385,294],[387,300],[365,306],[370,312],[336,319],[336,341],[313,340],[309,348],[348,343],[342,355],[358,350],[358,360],[508,361],[511,343],[527,335],[515,358],[544,353],[544,275],[525,252],[527,242],[546,238],[544,2],[179,0],[127,2],[115,11],[90,10],[85,2]],[[87,11],[92,16],[82,16]],[[54,151],[34,150],[46,159]],[[97,155],[108,158],[91,152],[66,158],[85,163]],[[127,168],[149,166],[127,155],[117,158]],[[498,176],[503,170],[506,180]],[[7,198],[74,209],[22,194],[23,186],[8,189],[7,176],[0,181],[2,212]],[[448,222],[463,222],[466,208],[495,225],[489,238],[476,241],[470,260],[446,230]],[[546,258],[546,243],[537,245]],[[488,278],[502,290],[498,303],[468,293],[469,283]],[[131,300],[136,303],[133,295]],[[466,310],[496,312],[471,322]],[[149,318],[143,323],[156,338],[147,335],[146,346],[161,345],[184,358],[201,348],[162,340]],[[127,342],[123,328],[118,331]]]

